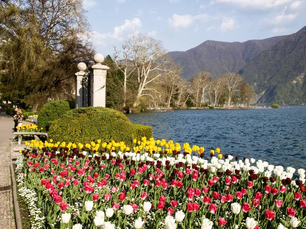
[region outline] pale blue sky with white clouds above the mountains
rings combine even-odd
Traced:
[[[306,0],[83,0],[96,52],[114,54],[133,33],[186,51],[207,40],[244,42],[296,33]]]

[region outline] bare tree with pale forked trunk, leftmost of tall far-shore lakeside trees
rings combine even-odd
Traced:
[[[191,79],[191,85],[194,90],[195,106],[199,107],[207,95],[211,82],[211,73],[202,71]]]

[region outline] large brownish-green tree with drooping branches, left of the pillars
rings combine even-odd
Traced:
[[[94,54],[84,41],[89,31],[82,1],[1,1],[0,7],[0,36],[8,38],[2,47],[2,99],[34,109],[48,100],[73,99],[76,65],[89,64]]]

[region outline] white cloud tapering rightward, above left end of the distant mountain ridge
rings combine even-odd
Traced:
[[[210,19],[210,16],[208,14],[198,14],[195,16],[191,16],[189,14],[186,15],[173,14],[172,18],[168,18],[168,23],[175,28],[179,27],[187,28],[196,20],[208,20],[208,19]]]

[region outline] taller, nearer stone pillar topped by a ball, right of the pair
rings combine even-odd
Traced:
[[[95,65],[89,68],[90,71],[90,106],[105,107],[106,99],[106,73],[109,67],[102,65],[104,56],[100,53],[94,55]]]

